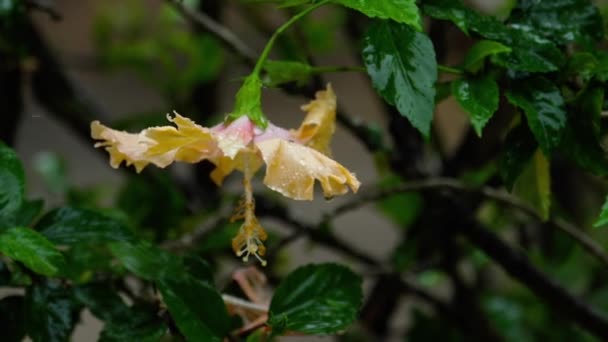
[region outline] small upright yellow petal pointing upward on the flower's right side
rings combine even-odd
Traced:
[[[315,150],[330,155],[329,144],[336,130],[336,94],[330,84],[318,91],[315,100],[302,106],[308,114],[295,132],[297,140]]]

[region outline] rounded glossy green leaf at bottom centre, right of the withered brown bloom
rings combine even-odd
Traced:
[[[344,330],[356,319],[361,306],[361,281],[361,277],[337,264],[300,267],[276,289],[268,325],[275,334],[331,334]]]

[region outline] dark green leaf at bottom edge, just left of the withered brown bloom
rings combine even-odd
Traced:
[[[230,317],[220,294],[208,283],[191,277],[165,279],[158,289],[179,330],[190,341],[222,341]]]

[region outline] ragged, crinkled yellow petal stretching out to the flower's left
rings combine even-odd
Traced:
[[[209,129],[176,113],[168,117],[173,126],[152,127],[133,134],[108,128],[98,121],[91,123],[91,136],[102,140],[95,147],[105,147],[110,164],[117,168],[123,161],[140,172],[148,164],[166,167],[174,161],[196,163],[218,154],[217,143]]]

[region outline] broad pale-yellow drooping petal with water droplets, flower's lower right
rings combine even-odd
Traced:
[[[282,139],[256,144],[266,162],[264,184],[283,196],[312,200],[315,179],[326,198],[359,189],[359,181],[342,165],[306,146]]]

